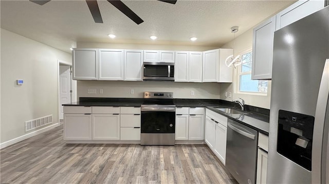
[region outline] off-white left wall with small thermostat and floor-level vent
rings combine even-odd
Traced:
[[[1,29],[1,142],[25,135],[27,120],[58,122],[58,59],[71,63],[71,54]]]

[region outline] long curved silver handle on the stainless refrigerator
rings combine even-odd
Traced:
[[[312,147],[312,183],[325,183],[328,161],[328,96],[329,96],[329,59],[326,59],[322,73],[317,106],[314,120],[313,147]],[[326,171],[327,170],[327,171]]]

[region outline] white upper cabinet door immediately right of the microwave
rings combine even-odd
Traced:
[[[187,82],[189,73],[189,52],[177,51],[175,60],[175,82]]]

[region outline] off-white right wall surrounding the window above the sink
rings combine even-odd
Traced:
[[[233,47],[234,43],[234,47]],[[225,44],[222,48],[234,48],[234,55],[240,54],[246,50],[252,49],[252,29],[241,34],[239,37],[236,37],[231,42]],[[237,98],[242,98],[245,100],[247,105],[257,106],[269,109],[270,108],[270,98],[271,98],[271,80],[268,80],[268,92],[266,96],[259,95],[250,95],[250,94],[241,94],[237,92],[237,86],[235,86],[237,79],[237,69],[233,70],[233,83],[223,83],[221,84],[221,99],[233,100]],[[232,92],[232,98],[225,97],[225,92]]]

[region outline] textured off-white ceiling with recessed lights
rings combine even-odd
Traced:
[[[77,42],[222,46],[296,1],[123,1],[143,19],[136,25],[107,1],[98,1],[104,24],[85,1],[52,0],[43,6],[0,1],[1,28],[70,52]],[[107,34],[115,34],[111,39]],[[157,40],[150,40],[156,35]],[[197,37],[195,42],[190,37]]]

